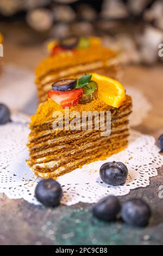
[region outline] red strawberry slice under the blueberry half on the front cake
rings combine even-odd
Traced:
[[[58,103],[62,108],[76,105],[84,92],[83,88],[68,90],[65,92],[51,90],[48,97]]]

